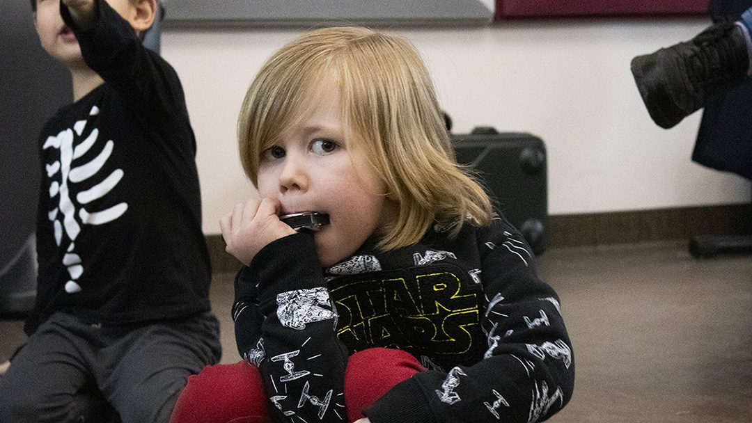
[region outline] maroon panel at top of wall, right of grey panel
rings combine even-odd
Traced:
[[[495,20],[514,17],[708,15],[709,0],[496,0]]]

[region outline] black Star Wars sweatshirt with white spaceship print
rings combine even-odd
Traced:
[[[293,234],[241,269],[235,300],[238,350],[278,421],[344,421],[347,358],[372,347],[428,369],[366,410],[372,423],[542,421],[572,396],[559,298],[504,219],[392,252],[366,243],[324,270],[313,236]]]

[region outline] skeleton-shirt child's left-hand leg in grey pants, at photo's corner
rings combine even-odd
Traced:
[[[57,313],[29,337],[0,379],[0,421],[101,421],[113,415],[88,369],[88,331]]]

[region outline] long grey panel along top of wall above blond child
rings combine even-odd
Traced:
[[[166,0],[165,26],[479,25],[482,0]]]

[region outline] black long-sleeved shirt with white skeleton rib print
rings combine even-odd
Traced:
[[[63,310],[130,324],[209,310],[196,139],[174,69],[107,2],[75,31],[105,83],[39,138],[38,298],[31,334]],[[61,4],[68,26],[75,29]]]

